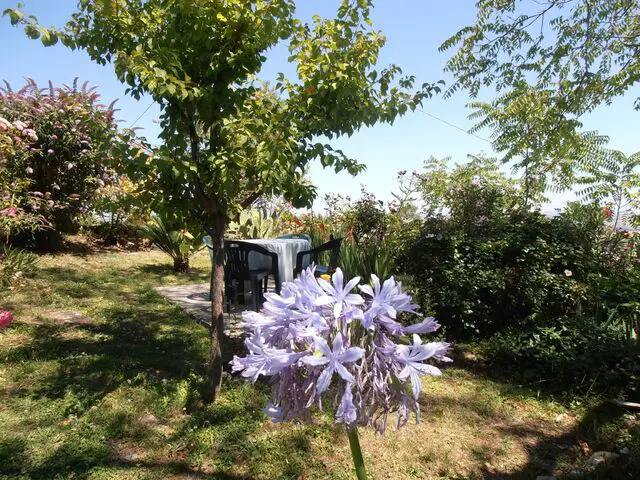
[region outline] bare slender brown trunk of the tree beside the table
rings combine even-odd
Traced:
[[[209,398],[214,402],[222,386],[222,347],[224,334],[224,233],[225,222],[215,219],[215,227],[209,232],[213,244],[213,264],[211,266],[211,359],[209,363]]]

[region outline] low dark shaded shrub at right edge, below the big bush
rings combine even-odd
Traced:
[[[479,345],[499,377],[546,393],[640,399],[640,344],[616,322],[558,319],[554,326],[512,327]]]

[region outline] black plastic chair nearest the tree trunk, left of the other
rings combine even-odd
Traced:
[[[260,255],[271,257],[271,267],[250,268],[249,254],[255,252]],[[224,241],[224,284],[227,302],[231,296],[238,300],[240,295],[246,296],[244,292],[244,282],[251,282],[251,296],[253,308],[258,311],[263,300],[263,289],[267,291],[269,276],[273,276],[276,284],[276,292],[280,293],[280,274],[278,272],[278,254],[270,252],[260,245],[251,242],[241,242],[238,240]],[[238,284],[234,286],[234,281]]]

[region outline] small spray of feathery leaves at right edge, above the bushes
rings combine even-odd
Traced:
[[[613,229],[618,227],[625,211],[638,208],[640,200],[640,152],[626,156],[612,150],[602,162],[591,166],[578,178],[578,184],[587,185],[579,195],[598,203],[610,202],[614,206]]]

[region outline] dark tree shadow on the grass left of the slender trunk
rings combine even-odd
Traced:
[[[35,398],[71,394],[80,409],[74,413],[79,414],[139,374],[171,379],[190,372],[205,374],[202,332],[177,309],[159,312],[139,306],[102,313],[108,322],[35,326],[32,341],[12,349],[6,361],[55,361],[56,369],[13,394]]]

